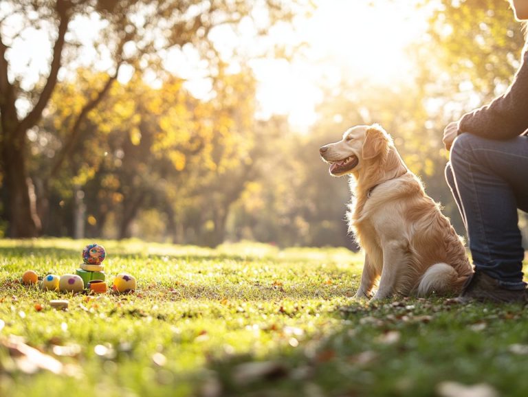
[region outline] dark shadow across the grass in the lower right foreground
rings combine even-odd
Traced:
[[[334,314],[342,319],[335,332],[289,335],[265,356],[211,360],[198,395],[448,396],[439,392],[446,382],[456,395],[481,383],[490,394],[467,396],[526,395],[528,314],[520,306],[408,299]]]

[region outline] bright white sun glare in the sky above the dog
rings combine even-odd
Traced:
[[[309,47],[292,63],[255,60],[263,118],[284,114],[299,131],[316,121],[321,83],[369,80],[391,86],[412,77],[407,47],[427,29],[426,10],[415,1],[319,0],[310,19],[298,19],[293,34],[277,41],[305,41]]]

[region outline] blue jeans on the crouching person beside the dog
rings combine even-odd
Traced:
[[[463,133],[445,168],[467,230],[475,269],[523,289],[517,209],[528,212],[528,137],[496,141]]]

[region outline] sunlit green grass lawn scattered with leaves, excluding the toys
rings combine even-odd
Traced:
[[[101,241],[108,279],[137,277],[131,295],[20,284],[74,273],[88,242],[0,240],[0,396],[528,395],[520,306],[353,302],[358,254],[254,244]],[[35,371],[47,360],[56,373]]]

